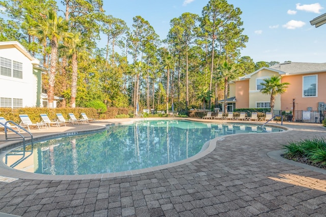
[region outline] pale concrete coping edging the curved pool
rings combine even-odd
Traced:
[[[156,119],[151,119],[156,120]],[[159,119],[161,120],[161,119]],[[189,120],[184,118],[173,118],[173,119],[167,119],[167,120],[184,120],[184,121],[190,121],[190,122],[202,122],[202,123],[224,123],[224,124],[230,124],[230,123],[241,123],[241,124],[250,124],[250,125],[259,125],[258,123],[246,123],[246,122],[206,122],[203,120]],[[95,133],[105,130],[107,127],[110,127],[112,125],[124,125],[124,124],[130,124],[134,123],[138,120],[131,120],[128,122],[117,122],[117,123],[108,123],[105,125],[98,125],[98,128],[90,129],[90,130],[72,130],[68,132],[57,132],[57,133],[48,133],[45,135],[39,135],[34,138],[34,142],[39,142],[43,140],[48,139],[55,139],[58,137],[68,137],[70,135],[76,135],[76,134],[86,134],[86,133]],[[277,127],[284,129],[281,132],[265,132],[265,133],[282,133],[286,130],[291,130],[288,127],[285,126],[275,126],[275,125],[265,125],[265,126],[271,126],[271,127]],[[69,134],[68,134],[69,133]],[[75,133],[75,134],[71,134]],[[250,134],[250,133],[249,133]],[[128,175],[135,175],[135,174],[142,174],[147,172],[153,172],[157,170],[167,169],[183,164],[187,164],[188,162],[192,162],[194,160],[197,160],[199,158],[202,158],[206,156],[207,154],[211,153],[216,148],[216,143],[218,141],[223,141],[225,137],[229,137],[235,134],[229,134],[229,135],[223,135],[221,137],[214,138],[212,140],[207,141],[203,145],[203,149],[197,153],[196,155],[177,161],[172,162],[170,164],[150,167],[150,168],[143,168],[143,169],[137,169],[137,170],[130,170],[130,171],[123,171],[123,172],[114,172],[114,173],[100,173],[100,174],[88,174],[88,175],[46,175],[46,174],[38,174],[38,173],[31,173],[31,172],[25,172],[17,169],[10,168],[7,166],[4,162],[4,160],[1,160],[0,162],[0,174],[5,177],[11,177],[11,178],[18,178],[18,179],[37,179],[37,180],[84,180],[84,179],[103,179],[103,178],[115,178],[115,177],[122,177],[122,176],[128,176]],[[17,148],[21,146],[21,142],[13,142],[10,141],[8,144],[2,144],[3,147],[0,148],[0,159],[3,159],[4,156],[8,153],[8,151]],[[204,148],[206,146],[206,148]]]

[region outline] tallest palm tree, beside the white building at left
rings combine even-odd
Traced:
[[[58,43],[64,35],[68,34],[68,23],[63,17],[58,17],[56,11],[49,10],[46,16],[42,16],[42,19],[35,28],[30,29],[29,33],[44,40],[49,40],[51,48],[50,53],[50,71],[48,72],[48,107],[53,107],[53,99],[55,93],[55,75],[57,73],[57,61],[58,61]]]

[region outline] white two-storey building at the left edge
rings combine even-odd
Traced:
[[[46,69],[19,42],[0,42],[0,107],[40,107]]]

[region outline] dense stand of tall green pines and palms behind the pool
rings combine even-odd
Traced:
[[[1,1],[0,40],[19,41],[49,68],[42,92],[58,106],[106,106],[186,110],[226,98],[237,76],[278,62],[241,57],[241,10],[226,0],[209,0],[202,14],[170,21],[166,39],[141,16],[125,20],[107,14],[102,0]],[[101,36],[106,44],[99,45]],[[198,97],[201,96],[201,97]]]

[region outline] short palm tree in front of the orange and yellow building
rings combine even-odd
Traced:
[[[264,82],[260,83],[264,87],[260,90],[261,93],[270,95],[270,112],[272,117],[274,117],[274,106],[275,106],[275,97],[282,93],[285,93],[288,85],[290,83],[284,82],[281,83],[281,76],[272,76],[270,78],[263,79]]]

